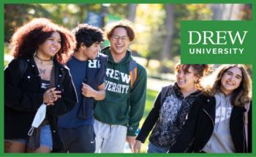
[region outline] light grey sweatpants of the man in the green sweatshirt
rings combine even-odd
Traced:
[[[127,127],[110,125],[94,119],[96,134],[95,153],[124,153],[124,144],[127,139]]]

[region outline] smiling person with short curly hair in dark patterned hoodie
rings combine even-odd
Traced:
[[[149,112],[140,134],[136,138],[134,152],[139,153],[153,129],[148,153],[166,153],[184,125],[192,102],[200,94],[200,80],[208,71],[207,64],[178,64],[176,83],[162,88]]]

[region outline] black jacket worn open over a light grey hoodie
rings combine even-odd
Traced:
[[[200,152],[214,131],[215,107],[216,100],[214,96],[198,96],[192,104],[184,129],[181,130],[169,153]],[[244,136],[245,111],[244,107],[234,106],[230,115],[230,134],[236,153],[251,151],[246,147],[246,137]],[[251,118],[251,110],[249,110],[249,118]],[[251,120],[249,120],[248,128],[251,129]],[[248,135],[250,145],[252,143],[251,131]],[[251,146],[248,148],[251,149]]]

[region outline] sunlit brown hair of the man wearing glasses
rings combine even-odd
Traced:
[[[113,35],[113,31],[116,28],[124,28],[127,30],[127,35],[129,37],[129,41],[132,42],[135,39],[135,31],[133,30],[133,24],[129,20],[119,20],[115,23],[110,23],[105,26],[105,33],[108,39],[110,39]]]

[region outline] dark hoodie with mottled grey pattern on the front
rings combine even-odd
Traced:
[[[184,98],[177,83],[162,88],[136,139],[144,143],[148,134],[154,128],[149,141],[154,145],[168,149],[183,128],[192,102],[194,102],[198,95],[200,95],[200,91],[195,91]],[[167,107],[163,107],[165,98],[168,96],[172,96],[174,102],[168,102],[166,104]],[[173,124],[170,124],[168,118],[170,118],[170,112],[173,110],[172,106],[176,104],[181,104],[181,107],[176,113],[177,118],[173,121]],[[166,111],[163,112],[163,110]]]

